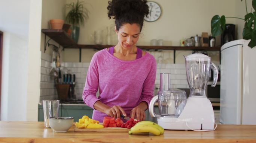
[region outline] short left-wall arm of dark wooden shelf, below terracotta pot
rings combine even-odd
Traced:
[[[45,50],[46,45],[51,39],[60,44],[63,48],[79,48],[77,43],[68,36],[63,29],[42,29],[41,31],[45,34]],[[47,42],[46,35],[50,37]]]

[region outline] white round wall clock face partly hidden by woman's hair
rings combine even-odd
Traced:
[[[161,7],[159,6],[159,4],[153,1],[148,1],[147,5],[149,6],[149,14],[147,15],[148,18],[146,16],[144,17],[144,20],[148,22],[153,22],[159,19],[159,17],[161,16]]]

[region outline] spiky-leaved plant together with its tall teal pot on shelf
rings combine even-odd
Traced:
[[[79,38],[79,26],[84,25],[85,20],[89,18],[89,10],[83,6],[83,1],[77,0],[70,4],[66,4],[69,10],[65,18],[67,23],[71,24],[71,38],[77,43]]]

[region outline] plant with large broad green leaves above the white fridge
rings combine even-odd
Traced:
[[[241,0],[243,1],[243,0]],[[245,0],[246,3],[246,0]],[[253,9],[256,11],[256,0],[252,0],[252,6]],[[226,27],[226,18],[237,18],[237,17],[225,17],[222,15],[221,17],[219,15],[213,16],[211,19],[211,34],[215,37],[220,34],[222,34]],[[246,15],[243,18],[237,18],[242,19],[245,21],[244,23],[244,30],[243,30],[243,39],[251,41],[249,42],[248,46],[253,48],[256,46],[256,12],[247,12],[247,4],[246,4]]]

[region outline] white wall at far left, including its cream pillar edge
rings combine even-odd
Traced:
[[[36,121],[42,0],[0,3],[0,31],[4,33],[1,120]]]

